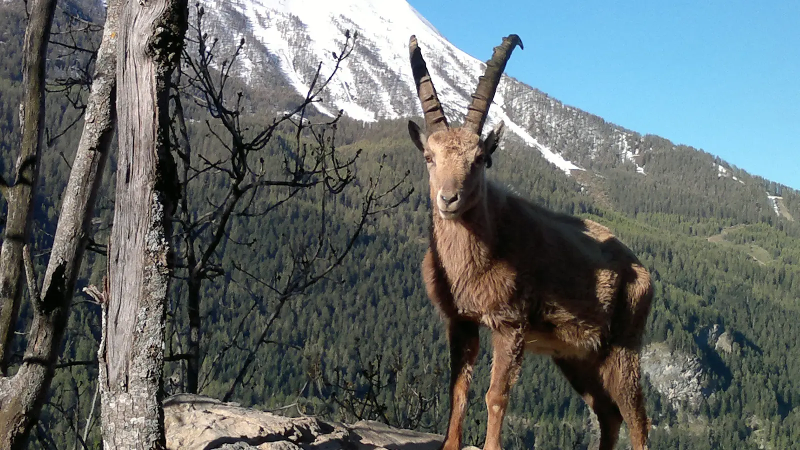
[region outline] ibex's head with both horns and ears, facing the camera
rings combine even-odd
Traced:
[[[486,62],[486,73],[478,79],[478,88],[472,94],[464,125],[450,128],[417,38],[411,36],[411,70],[425,114],[426,131],[413,121],[409,121],[408,131],[414,145],[425,155],[430,200],[442,219],[458,219],[482,200],[486,186],[484,171],[492,165],[491,156],[497,150],[504,126],[498,123],[486,139],[481,139],[481,132],[514,46],[522,48],[522,41],[516,34],[503,38],[502,44],[494,47],[492,58]]]

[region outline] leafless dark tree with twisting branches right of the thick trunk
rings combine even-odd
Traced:
[[[180,86],[182,90],[172,98],[175,119],[170,137],[177,144],[176,154],[181,165],[180,189],[183,194],[177,214],[179,219],[176,221],[180,230],[174,236],[183,247],[183,251],[178,252],[182,261],[176,266],[181,268],[181,273],[174,276],[186,282],[186,309],[189,315],[189,347],[186,353],[174,357],[186,360],[186,386],[189,392],[193,392],[193,389],[202,388],[210,381],[210,374],[218,369],[226,352],[244,352],[244,364],[226,392],[225,399],[228,400],[235,389],[248,380],[263,345],[276,344],[269,339],[270,332],[284,305],[301,297],[315,283],[323,280],[335,282],[331,279],[334,271],[341,267],[358,242],[366,223],[374,215],[397,206],[407,199],[408,194],[399,192],[405,177],[397,183],[383,183],[378,175],[370,180],[367,187],[354,183],[361,151],[342,152],[335,145],[336,127],[342,118],[342,111],[333,118],[319,119],[319,116],[311,116],[308,110],[320,101],[320,95],[334,79],[342,62],[350,56],[356,34],[345,34],[342,48],[334,54],[334,66],[330,73],[322,74],[322,63],[317,66],[305,98],[297,106],[274,117],[270,123],[256,127],[246,122],[248,98],[232,87],[236,62],[246,42],[238,42],[231,54],[219,55],[222,47],[219,41],[203,32],[204,14],[202,6],[198,6],[196,19],[190,23],[187,34],[190,45],[185,47],[182,55],[183,72],[173,82],[173,86]],[[217,144],[214,152],[202,155],[190,145],[190,133],[197,130],[186,123],[187,111],[183,108],[183,101],[194,102],[204,110],[206,117],[210,116],[204,121],[203,132]],[[203,123],[200,118],[190,122],[198,125]],[[270,142],[276,135],[286,136],[287,132],[294,139],[289,138],[285,146],[277,147],[278,155],[270,154],[273,150]],[[274,160],[265,162],[268,156]],[[195,191],[190,191],[190,183],[225,183],[227,188],[219,196],[206,195],[206,211],[197,211],[190,210],[190,195]],[[382,191],[384,184],[389,185],[389,191]],[[331,216],[338,211],[334,197],[348,187],[363,196],[362,211],[356,212],[358,218],[346,235],[334,237],[328,232]],[[241,329],[244,318],[240,319],[234,328],[234,338],[214,356],[211,364],[201,364],[202,283],[226,271],[226,267],[219,262],[225,243],[252,246],[255,242],[254,239],[232,237],[237,235],[233,231],[233,224],[238,223],[235,219],[249,219],[277,211],[278,207],[297,199],[302,192],[308,193],[322,208],[322,215],[317,218],[321,225],[311,230],[313,237],[310,242],[298,244],[296,248],[287,247],[287,253],[290,252],[292,256],[282,273],[262,277],[250,271],[249,267],[231,263],[234,271],[244,275],[247,280],[255,281],[252,284],[266,294],[252,291],[246,286],[248,283],[230,280],[230,283],[243,287],[254,299],[248,315],[255,313],[258,305],[264,307],[265,311],[258,309],[258,313],[264,315],[260,332],[249,336],[248,344],[243,344],[245,338]],[[260,200],[265,195],[269,195],[270,199],[266,204]],[[269,312],[266,311],[267,304],[271,308]],[[205,366],[202,373],[199,370],[201,365]]]

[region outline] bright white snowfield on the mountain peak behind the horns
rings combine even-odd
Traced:
[[[332,54],[342,50],[346,30],[357,32],[354,52],[329,85],[320,107],[329,115],[341,109],[366,122],[421,115],[408,62],[411,34],[417,35],[451,119],[462,119],[485,68],[483,62],[448,42],[406,0],[204,0],[203,4],[218,30],[242,30],[242,37],[256,43],[247,47],[242,61],[246,78],[258,80],[259,74],[268,71],[266,65],[277,63],[299,94],[308,91],[318,62],[323,74],[333,70]],[[504,77],[487,130],[503,120],[514,135],[562,171],[579,169],[535,136],[531,128],[539,113],[531,109],[530,99],[536,95],[546,97]]]

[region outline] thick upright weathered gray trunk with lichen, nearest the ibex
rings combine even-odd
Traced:
[[[119,158],[99,350],[105,448],[164,448],[162,372],[177,195],[169,86],[186,0],[126,2],[119,20]]]

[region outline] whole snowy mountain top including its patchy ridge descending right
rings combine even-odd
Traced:
[[[346,58],[324,92],[319,109],[328,115],[344,110],[345,115],[366,122],[421,116],[414,79],[408,61],[408,40],[415,34],[428,63],[431,77],[450,120],[461,120],[483,73],[485,64],[466,54],[442,36],[406,0],[201,0],[210,34],[230,42],[245,38],[247,45],[238,66],[239,73],[254,86],[274,85],[305,95],[322,62],[322,75],[334,67],[345,42],[345,32],[358,34],[350,58]],[[507,30],[526,39],[526,30]],[[534,38],[531,36],[531,38]],[[498,35],[497,43],[502,36]],[[517,50],[520,52],[521,50]],[[486,49],[486,55],[491,49]],[[519,58],[515,53],[512,58]],[[542,61],[558,64],[555,61]],[[608,171],[622,170],[630,176],[648,177],[648,162],[673,143],[658,136],[643,136],[607,123],[604,119],[566,106],[534,87],[504,75],[486,131],[502,120],[511,133],[537,150],[567,175],[575,175],[584,186],[602,191]],[[660,151],[654,151],[654,147]],[[686,147],[683,147],[686,150]],[[694,153],[690,149],[690,153]],[[723,172],[724,163],[711,155],[710,179],[718,183],[745,184],[742,172]],[[726,164],[727,165],[727,164]],[[717,167],[719,166],[719,172]],[[586,171],[584,171],[584,169]],[[698,167],[687,168],[688,172]],[[705,170],[705,169],[704,169]],[[654,167],[654,171],[658,168]],[[617,172],[618,173],[618,172]],[[739,176],[734,176],[739,175]],[[753,186],[754,187],[754,186]],[[744,188],[744,187],[742,187]],[[761,188],[759,188],[760,190]],[[775,200],[769,199],[774,203]],[[770,208],[770,212],[771,212]]]

